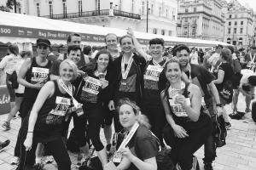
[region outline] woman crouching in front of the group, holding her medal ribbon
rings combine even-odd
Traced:
[[[122,155],[119,165],[113,168],[108,163],[104,170],[157,170],[156,156],[159,153],[160,144],[154,134],[149,131],[147,118],[141,114],[139,107],[129,99],[119,101],[118,111],[119,122],[124,127],[120,133],[128,134],[134,130],[135,133],[126,147],[119,150]],[[120,143],[119,136],[118,145]]]

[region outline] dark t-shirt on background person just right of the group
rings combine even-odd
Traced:
[[[221,63],[218,67],[218,70],[224,71],[224,79],[220,84],[215,84],[216,88],[221,91],[223,89],[224,83],[227,81],[232,81],[232,77],[234,76],[234,71],[229,63]]]

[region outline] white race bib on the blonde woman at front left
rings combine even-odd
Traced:
[[[56,116],[65,116],[68,108],[71,106],[71,100],[63,97],[56,97],[55,100],[55,110],[49,112],[49,114]]]

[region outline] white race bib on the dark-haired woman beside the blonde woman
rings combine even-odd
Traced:
[[[93,77],[85,77],[85,84],[83,87],[83,91],[89,94],[99,94],[99,89],[102,87],[101,81]]]

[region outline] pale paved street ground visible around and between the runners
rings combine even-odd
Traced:
[[[225,109],[231,113],[231,105],[226,105]],[[245,110],[244,97],[239,96],[238,111]],[[7,115],[0,116],[0,123],[6,119]],[[247,115],[243,120],[230,120],[232,127],[228,130],[226,145],[217,149],[217,158],[213,162],[214,170],[256,170],[256,123],[253,122],[251,115]],[[72,127],[73,125],[71,125]],[[0,140],[10,139],[11,143],[6,150],[0,153],[0,170],[12,170],[15,166],[10,165],[13,158],[16,137],[20,128],[20,119],[15,119],[11,122],[11,130],[4,132],[0,131]],[[103,133],[101,138],[105,143]],[[203,147],[195,153],[200,161],[201,169],[203,164],[201,159],[204,156]],[[72,169],[76,169],[76,156],[70,154]],[[56,164],[49,164],[45,167],[46,170],[57,169]]]

